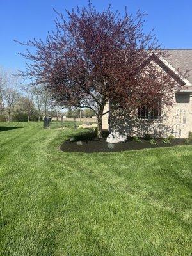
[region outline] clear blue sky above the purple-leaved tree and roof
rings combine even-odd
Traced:
[[[56,14],[71,10],[85,0],[0,0],[0,66],[24,69],[24,59],[17,52],[24,47],[13,40],[26,41],[42,38],[54,29]],[[192,1],[191,0],[93,0],[98,10],[109,3],[113,10],[130,13],[140,9],[148,13],[145,29],[155,28],[159,42],[168,49],[192,48]]]

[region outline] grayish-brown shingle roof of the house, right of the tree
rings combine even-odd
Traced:
[[[167,49],[166,51],[169,56],[165,59],[174,68],[179,68],[181,72],[191,70],[186,78],[192,84],[192,49]]]

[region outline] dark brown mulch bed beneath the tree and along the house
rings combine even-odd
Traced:
[[[61,145],[61,150],[66,152],[118,152],[127,150],[139,150],[144,148],[158,148],[158,147],[173,147],[177,145],[185,145],[185,139],[175,139],[171,141],[171,144],[162,142],[162,139],[156,139],[157,145],[152,145],[150,141],[141,139],[142,142],[135,142],[129,138],[124,143],[116,143],[111,146],[106,142],[106,138],[93,139],[87,141],[81,141],[82,145],[77,145],[77,141],[71,142],[70,140],[65,141]],[[192,145],[192,141],[189,142]],[[112,147],[112,148],[111,148]]]

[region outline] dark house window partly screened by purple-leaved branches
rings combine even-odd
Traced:
[[[159,117],[161,117],[161,108],[154,108],[150,110],[147,106],[142,106],[138,109],[138,118],[140,119],[155,120]]]

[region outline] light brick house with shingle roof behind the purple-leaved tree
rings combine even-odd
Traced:
[[[173,106],[162,108],[161,113],[143,108],[138,109],[138,116],[134,118],[113,117],[113,110],[102,116],[102,129],[119,131],[128,136],[144,136],[152,134],[155,137],[167,137],[173,134],[176,138],[188,138],[189,131],[192,132],[192,49],[169,49],[168,57],[157,58],[150,56],[148,61],[154,61],[158,68],[170,72],[173,79],[183,85],[182,90],[175,92]],[[189,71],[189,77],[181,77],[181,72]],[[104,112],[111,108],[108,102]],[[117,120],[118,119],[118,120]]]

